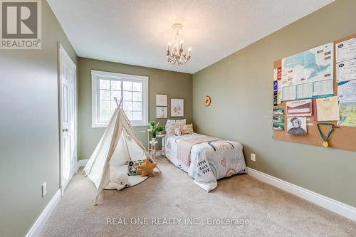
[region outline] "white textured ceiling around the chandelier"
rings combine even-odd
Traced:
[[[195,73],[333,0],[48,0],[78,56]],[[167,63],[173,23],[192,59]]]

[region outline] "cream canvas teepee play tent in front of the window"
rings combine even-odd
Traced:
[[[117,103],[117,100],[115,98]],[[97,191],[94,204],[103,189],[124,189],[147,179],[147,177],[128,176],[127,163],[150,159],[142,142],[136,137],[130,121],[120,105],[112,114],[109,125],[98,146],[91,155],[83,173],[95,184]]]

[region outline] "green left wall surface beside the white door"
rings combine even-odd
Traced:
[[[42,1],[42,49],[0,50],[0,236],[26,235],[59,189],[58,42],[76,63]]]

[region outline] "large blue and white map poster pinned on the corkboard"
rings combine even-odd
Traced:
[[[333,95],[333,43],[282,59],[282,100]]]

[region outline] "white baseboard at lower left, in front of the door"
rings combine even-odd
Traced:
[[[53,198],[47,204],[46,208],[42,211],[41,215],[38,216],[36,222],[31,227],[30,231],[26,234],[26,237],[36,237],[41,232],[43,226],[46,224],[49,216],[51,216],[53,210],[56,208],[58,201],[61,199],[61,189],[56,191]]]

